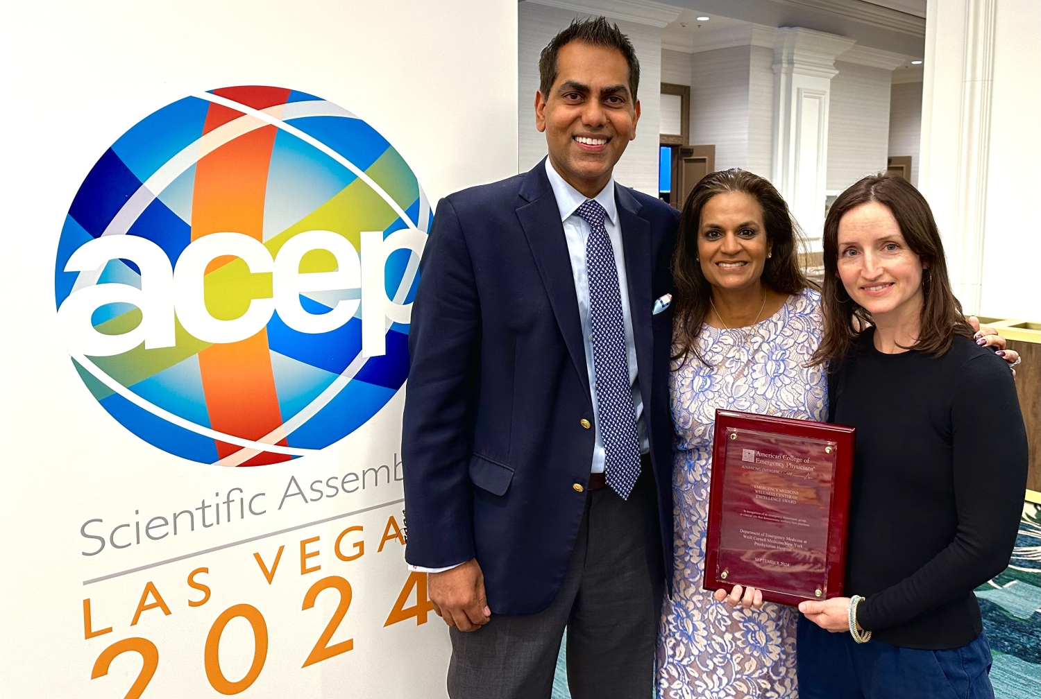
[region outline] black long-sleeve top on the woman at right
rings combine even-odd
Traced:
[[[956,337],[942,357],[874,348],[831,377],[831,421],[857,428],[846,595],[894,646],[957,648],[983,630],[973,589],[1009,563],[1026,482],[1012,372]]]

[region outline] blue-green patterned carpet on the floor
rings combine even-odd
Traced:
[[[1041,693],[1039,515],[1037,504],[1023,503],[1022,524],[1009,567],[975,591],[994,655],[990,680],[996,699],[1037,699]],[[553,699],[570,699],[570,696],[562,643],[553,680]]]

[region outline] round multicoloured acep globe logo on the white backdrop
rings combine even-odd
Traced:
[[[207,464],[286,461],[405,382],[430,221],[354,114],[214,89],[139,122],[87,175],[58,244],[58,321],[87,388],[142,439]]]

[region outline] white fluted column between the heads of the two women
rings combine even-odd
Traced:
[[[824,219],[828,105],[835,58],[854,40],[781,27],[773,44],[773,185],[819,251]]]

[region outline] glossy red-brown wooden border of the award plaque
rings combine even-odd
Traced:
[[[708,534],[705,542],[705,575],[702,587],[715,591],[731,589],[738,580],[721,579],[717,575],[719,561],[719,537],[722,519],[723,475],[727,467],[727,430],[753,430],[791,437],[834,441],[838,445],[833,474],[833,490],[828,517],[827,546],[827,593],[822,597],[798,596],[773,590],[762,589],[763,599],[781,604],[797,605],[804,599],[829,599],[842,596],[845,581],[846,529],[849,520],[849,488],[853,477],[854,428],[828,422],[796,420],[787,417],[772,417],[740,413],[731,410],[716,410],[715,434],[712,444],[712,481],[709,494]]]

